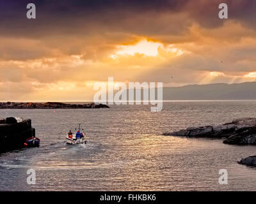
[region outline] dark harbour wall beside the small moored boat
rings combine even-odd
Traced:
[[[8,117],[0,124],[0,153],[24,147],[24,142],[35,136],[31,120]]]

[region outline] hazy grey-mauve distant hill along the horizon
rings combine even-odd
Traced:
[[[142,97],[143,91],[141,91],[141,99]],[[241,84],[205,84],[185,85],[182,87],[163,87],[163,100],[250,99],[256,99],[256,82],[244,82]]]

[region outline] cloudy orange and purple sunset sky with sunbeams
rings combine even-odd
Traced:
[[[255,0],[0,0],[0,101],[92,100],[108,77],[254,82],[255,13]]]

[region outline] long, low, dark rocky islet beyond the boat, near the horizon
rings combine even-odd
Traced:
[[[47,102],[47,103],[15,103],[6,102],[0,103],[0,109],[16,108],[16,109],[72,109],[72,108],[109,108],[108,105],[96,104],[96,103],[85,103],[85,104],[70,104],[70,103],[58,103],[58,102]],[[1,123],[1,120],[0,120]]]

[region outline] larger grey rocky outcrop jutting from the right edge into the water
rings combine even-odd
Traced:
[[[238,119],[218,126],[187,128],[163,135],[225,138],[223,143],[231,145],[256,145],[256,119]]]

